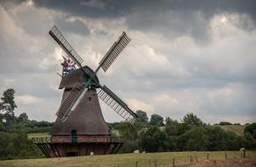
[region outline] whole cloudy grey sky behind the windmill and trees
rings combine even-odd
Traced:
[[[64,52],[48,31],[56,25],[91,69],[125,31],[128,47],[98,76],[131,109],[255,122],[255,9],[253,0],[0,0],[0,92],[16,91],[16,115],[54,121]]]

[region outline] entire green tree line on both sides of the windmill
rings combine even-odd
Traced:
[[[15,91],[4,91],[0,101],[0,159],[43,157],[27,134],[48,133],[53,122],[29,120],[26,113],[15,115],[18,107]],[[214,151],[256,149],[256,123],[245,127],[244,134],[224,131],[219,126],[204,123],[194,113],[187,113],[181,121],[137,111],[139,118],[133,125],[127,122],[108,123],[113,136],[126,140],[120,153],[136,149],[146,152],[163,151]],[[219,125],[230,125],[220,122]]]

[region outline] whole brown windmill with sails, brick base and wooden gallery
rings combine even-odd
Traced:
[[[50,131],[51,137],[35,138],[33,142],[47,157],[86,156],[92,152],[96,155],[116,153],[121,148],[123,138],[112,136],[101,113],[99,98],[129,123],[133,123],[137,115],[106,85],[99,84],[97,72],[99,69],[106,71],[130,39],[123,32],[99,62],[99,67],[93,71],[88,66],[82,66],[83,59],[56,26],[49,34],[68,55],[69,61],[74,62],[74,66],[76,64],[77,69],[67,71],[63,66],[59,89],[64,91],[56,113],[57,119]]]

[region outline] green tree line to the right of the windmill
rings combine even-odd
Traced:
[[[163,151],[217,151],[256,149],[256,123],[245,127],[244,134],[224,131],[220,126],[204,123],[194,113],[187,113],[181,121],[152,114],[149,118],[143,111],[136,112],[135,124],[113,123],[127,141],[121,153],[135,149],[146,152]]]

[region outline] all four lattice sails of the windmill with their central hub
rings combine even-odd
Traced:
[[[128,108],[121,98],[118,98],[113,91],[106,87],[106,85],[99,84],[99,79],[96,76],[99,69],[103,69],[105,72],[114,62],[114,60],[121,54],[121,51],[128,45],[128,42],[131,40],[125,32],[121,34],[119,40],[113,43],[113,46],[108,50],[102,60],[99,62],[99,67],[91,72],[89,67],[83,67],[82,62],[84,60],[80,57],[79,54],[75,51],[73,47],[70,46],[68,40],[64,38],[62,33],[54,26],[49,34],[53,37],[53,39],[62,47],[66,54],[68,54],[69,58],[72,59],[73,62],[76,62],[77,66],[83,70],[86,80],[83,85],[76,85],[70,92],[67,98],[63,101],[60,109],[56,113],[57,117],[62,121],[67,120],[69,117],[69,113],[72,112],[72,106],[76,104],[77,99],[83,95],[84,91],[88,91],[88,89],[96,89],[99,88],[100,91],[98,96],[102,99],[106,105],[109,105],[115,113],[118,113],[123,119],[127,120],[129,123],[133,123],[137,115]]]

